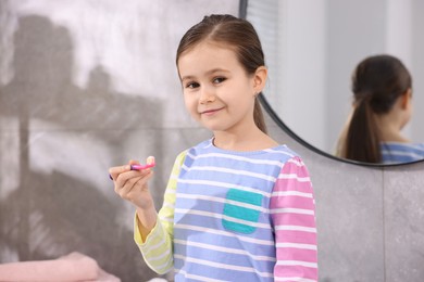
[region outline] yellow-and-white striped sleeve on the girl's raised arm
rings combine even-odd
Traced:
[[[170,180],[166,185],[163,206],[159,211],[157,225],[142,242],[137,225],[137,215],[134,219],[134,241],[140,249],[146,264],[157,273],[163,274],[172,270],[173,259],[173,232],[174,232],[174,205],[177,178],[183,165],[186,152],[180,153],[174,164]]]

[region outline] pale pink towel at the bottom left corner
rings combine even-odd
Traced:
[[[74,252],[52,260],[21,261],[0,265],[0,281],[120,282],[121,280],[99,268],[99,265],[95,259]]]

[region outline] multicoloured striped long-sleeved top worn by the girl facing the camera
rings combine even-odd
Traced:
[[[175,281],[317,281],[315,203],[285,145],[233,152],[204,141],[178,155],[153,230],[135,241]]]

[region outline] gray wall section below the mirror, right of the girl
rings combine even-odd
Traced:
[[[311,174],[320,281],[422,281],[424,162],[351,165],[310,151],[270,124],[272,134],[300,153]]]

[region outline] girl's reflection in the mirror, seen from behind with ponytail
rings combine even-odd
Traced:
[[[424,158],[424,144],[401,133],[412,115],[412,78],[400,60],[373,55],[352,75],[353,111],[337,155],[366,163],[408,163]]]

